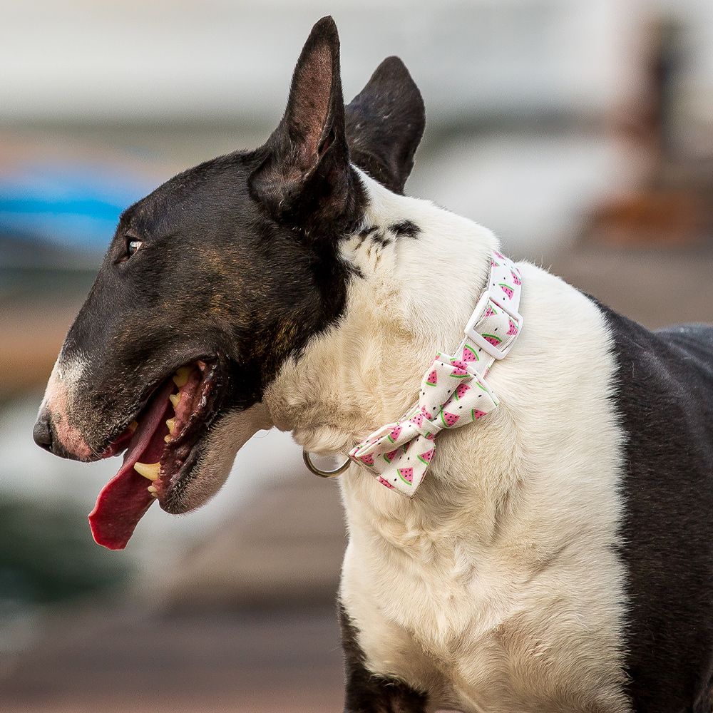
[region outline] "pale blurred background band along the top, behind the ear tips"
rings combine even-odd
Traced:
[[[712,4],[663,4],[712,37]],[[431,120],[607,111],[633,91],[644,0],[39,0],[0,6],[0,120],[272,120],[309,28],[333,14],[345,96],[398,54]],[[705,28],[708,29],[705,29]],[[713,66],[697,64],[698,95]],[[709,105],[710,106],[710,105]]]

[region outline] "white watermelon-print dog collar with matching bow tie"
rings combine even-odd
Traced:
[[[508,257],[493,252],[488,287],[466,324],[455,354],[438,353],[421,381],[419,403],[349,451],[382,485],[413,498],[436,453],[436,436],[487,416],[498,399],[486,382],[523,328],[523,280]]]

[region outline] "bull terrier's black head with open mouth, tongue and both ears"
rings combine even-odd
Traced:
[[[368,200],[352,162],[401,192],[423,128],[396,58],[344,107],[324,18],[265,145],[185,171],[123,213],[34,429],[58,456],[125,450],[90,516],[99,543],[123,548],[154,498],[171,513],[201,505],[270,427],[264,389],[344,309],[353,275],[339,240]]]

